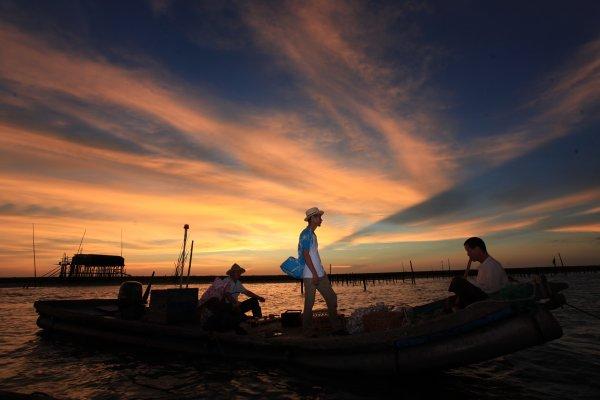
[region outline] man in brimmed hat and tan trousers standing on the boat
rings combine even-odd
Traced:
[[[329,278],[325,274],[321,256],[319,255],[319,243],[315,230],[321,226],[323,222],[323,214],[325,212],[317,207],[306,210],[306,218],[308,226],[300,233],[298,243],[298,262],[304,264],[304,273],[302,279],[304,281],[304,311],[302,313],[302,330],[306,336],[315,336],[313,330],[313,306],[315,304],[315,292],[318,290],[327,304],[327,313],[329,314],[329,322],[333,328],[333,333],[336,335],[344,334],[340,320],[337,316],[337,295],[331,287]]]

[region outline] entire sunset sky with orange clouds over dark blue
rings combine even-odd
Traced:
[[[0,276],[600,263],[597,1],[0,0]]]

